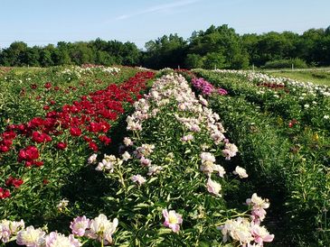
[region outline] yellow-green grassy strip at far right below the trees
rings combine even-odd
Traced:
[[[315,84],[330,86],[329,70],[306,70],[306,71],[274,71],[269,72],[273,76],[283,78],[293,78],[304,82],[313,82]]]

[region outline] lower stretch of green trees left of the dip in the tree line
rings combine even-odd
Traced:
[[[141,51],[132,42],[120,41],[79,41],[58,42],[54,47],[27,47],[24,42],[14,42],[0,50],[0,66],[49,67],[67,64],[100,64],[110,66],[121,64],[135,66],[140,63]]]

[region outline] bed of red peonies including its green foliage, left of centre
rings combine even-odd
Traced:
[[[91,151],[111,142],[111,124],[141,97],[146,81],[153,77],[153,72],[138,72],[125,83],[81,96],[60,111],[7,125],[0,135],[4,217],[35,214],[42,221],[42,212],[44,217],[52,216],[53,201],[61,198],[59,189],[68,183],[66,176],[80,169]]]

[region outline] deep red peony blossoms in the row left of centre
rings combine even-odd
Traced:
[[[118,115],[125,112],[123,102],[133,103],[136,98],[140,98],[139,92],[146,87],[146,80],[154,76],[153,72],[138,72],[120,86],[112,84],[104,90],[81,96],[80,101],[63,105],[59,112],[48,112],[45,118],[34,117],[28,123],[8,125],[5,133],[0,134],[0,153],[11,151],[18,135],[31,138],[35,143],[47,143],[52,142],[52,136],[59,136],[65,130],[69,131],[71,137],[81,137],[88,142],[91,150],[98,151],[97,142],[105,145],[111,142],[106,135],[110,129],[108,121],[117,120]],[[47,87],[52,87],[51,83],[47,83]],[[95,140],[93,137],[96,137]],[[65,150],[68,144],[57,142],[54,146],[58,150]],[[18,161],[24,162],[26,167],[42,166],[43,161],[38,160],[40,156],[40,151],[34,145],[18,151]],[[16,184],[15,182],[13,185]],[[8,193],[10,195],[9,191]],[[0,188],[0,198],[9,197],[8,193]]]

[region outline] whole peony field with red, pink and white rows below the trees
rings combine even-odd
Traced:
[[[273,75],[0,69],[0,242],[328,246],[330,87]]]

